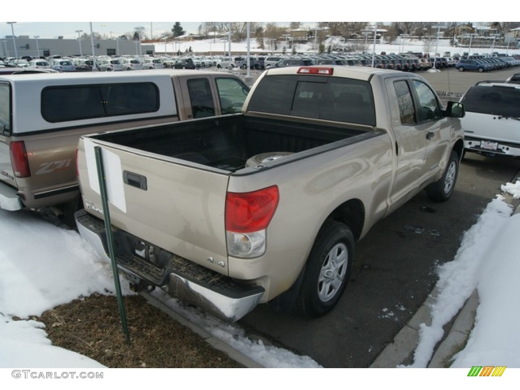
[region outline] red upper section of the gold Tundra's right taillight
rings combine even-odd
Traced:
[[[226,196],[226,230],[250,233],[266,229],[278,206],[278,187],[254,192],[228,192]]]

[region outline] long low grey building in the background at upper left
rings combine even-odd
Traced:
[[[63,39],[38,37],[28,35],[6,35],[1,38],[0,56],[2,57],[52,57],[52,56],[124,56],[124,55],[154,55],[153,44],[141,44],[125,38],[94,40]],[[16,50],[15,50],[16,48]],[[93,53],[94,51],[94,53]]]

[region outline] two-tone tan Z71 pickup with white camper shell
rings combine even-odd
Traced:
[[[248,92],[206,71],[0,76],[0,208],[74,210],[81,135],[239,112]]]

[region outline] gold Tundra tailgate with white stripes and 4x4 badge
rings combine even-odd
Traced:
[[[85,210],[98,217],[96,146],[101,148],[112,226],[228,275],[228,172],[84,137],[77,157],[80,185]]]

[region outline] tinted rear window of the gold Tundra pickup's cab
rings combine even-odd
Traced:
[[[251,95],[248,111],[375,126],[370,84],[343,77],[266,76]]]

